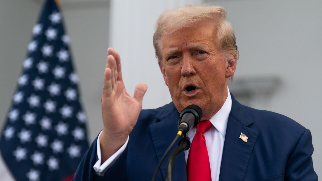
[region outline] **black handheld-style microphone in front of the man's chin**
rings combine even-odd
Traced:
[[[202,110],[199,106],[191,104],[181,111],[178,120],[178,131],[185,134],[194,126],[196,126],[202,118]]]

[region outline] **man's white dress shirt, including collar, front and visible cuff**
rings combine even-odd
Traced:
[[[204,133],[206,139],[206,146],[208,150],[210,170],[211,170],[211,179],[212,181],[219,180],[220,165],[223,156],[223,144],[225,142],[226,128],[230,110],[232,109],[232,98],[227,87],[228,97],[223,104],[223,107],[215,114],[209,121],[213,124],[208,131]],[[194,135],[196,134],[196,128],[192,128],[188,131],[187,137],[192,141]],[[99,133],[100,136],[100,133]],[[103,176],[107,169],[112,166],[121,153],[125,150],[128,140],[124,145],[111,157],[109,157],[102,165],[101,163],[101,153],[100,153],[100,144],[99,136],[97,138],[97,157],[98,160],[94,165],[94,170],[100,176]],[[187,163],[189,155],[189,149],[185,151],[185,162]]]

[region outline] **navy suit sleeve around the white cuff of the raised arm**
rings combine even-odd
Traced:
[[[115,163],[109,167],[103,176],[99,176],[93,166],[97,162],[97,138],[93,141],[90,148],[86,151],[76,170],[73,181],[106,181],[106,180],[126,180],[126,160],[128,154],[128,146],[118,157]]]

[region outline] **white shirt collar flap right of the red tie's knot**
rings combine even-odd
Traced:
[[[228,117],[230,114],[230,110],[232,109],[232,97],[229,92],[229,88],[227,87],[228,96],[226,98],[226,101],[223,103],[223,106],[220,108],[220,110],[213,115],[212,118],[209,119],[211,124],[225,137],[226,135],[226,129],[227,129],[227,123],[228,123]]]

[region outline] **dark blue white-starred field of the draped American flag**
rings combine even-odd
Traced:
[[[33,27],[0,149],[16,180],[72,178],[88,149],[62,14],[46,0]]]

